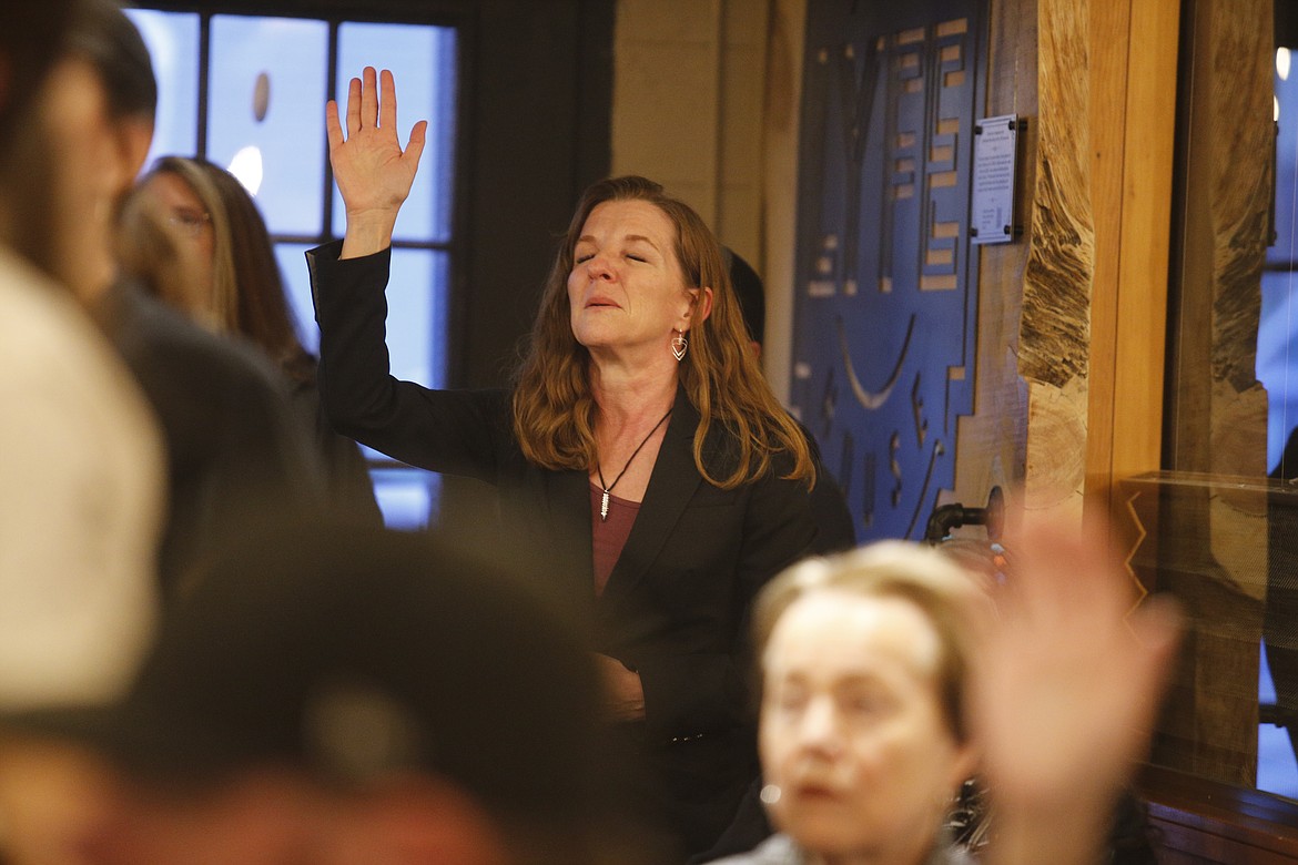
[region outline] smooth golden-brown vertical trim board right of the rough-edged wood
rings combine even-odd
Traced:
[[[1160,468],[1179,26],[1177,0],[1092,6],[1088,507]]]

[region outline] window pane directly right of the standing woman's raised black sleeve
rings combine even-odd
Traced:
[[[447,253],[392,250],[388,353],[392,375],[430,388],[447,380]]]

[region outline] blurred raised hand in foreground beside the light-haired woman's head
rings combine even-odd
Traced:
[[[974,716],[997,807],[994,864],[1092,862],[1149,744],[1179,635],[1102,527],[1027,528],[979,659]]]

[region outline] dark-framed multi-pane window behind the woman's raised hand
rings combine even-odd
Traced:
[[[398,135],[427,119],[428,140],[393,236],[388,349],[398,379],[447,381],[452,270],[457,30],[309,17],[136,8],[158,78],[149,162],[165,154],[221,165],[253,195],[291,293],[302,344],[319,345],[302,253],[341,237],[341,198],[324,143],[324,102],[365,66],[391,69]],[[330,71],[336,71],[331,79]],[[366,449],[384,519],[417,528],[436,516],[439,477]]]

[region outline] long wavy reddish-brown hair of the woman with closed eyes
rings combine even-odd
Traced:
[[[689,205],[667,196],[662,185],[639,176],[611,178],[582,196],[567,235],[545,281],[531,340],[515,373],[514,434],[523,455],[544,468],[585,469],[598,462],[594,437],[597,406],[591,393],[591,354],[572,335],[567,279],[587,218],[605,201],[645,201],[676,227],[675,253],[685,284],[713,289],[711,315],[696,303],[689,351],[680,362],[680,383],[698,411],[694,464],[710,484],[739,486],[771,471],[778,454],[788,458],[788,479],[815,482],[806,437],[771,393],[749,346],[739,301],[720,245]],[[722,472],[704,460],[713,425],[731,440]],[[785,469],[781,458],[781,469]]]

